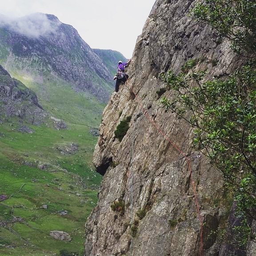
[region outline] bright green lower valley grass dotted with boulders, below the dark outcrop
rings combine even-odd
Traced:
[[[30,126],[33,134],[16,132],[16,128],[15,120],[11,126],[0,126],[0,195],[10,196],[0,203],[0,221],[13,215],[23,217],[25,222],[0,228],[0,244],[15,247],[0,246],[0,255],[54,255],[63,248],[79,251],[84,223],[96,204],[101,179],[90,164],[96,139],[83,125],[69,125],[62,131]],[[60,155],[56,146],[70,141],[80,145],[78,153]],[[29,167],[22,164],[25,160],[49,163],[56,170]],[[43,204],[48,205],[47,210],[40,208]],[[60,216],[60,210],[67,210],[68,215]],[[72,242],[52,239],[52,230],[68,232]]]

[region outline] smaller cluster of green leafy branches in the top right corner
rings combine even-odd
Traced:
[[[256,54],[256,2],[252,0],[204,0],[190,15],[210,24],[233,43],[237,52]]]

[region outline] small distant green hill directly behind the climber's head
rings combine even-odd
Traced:
[[[100,57],[112,75],[116,74],[116,67],[119,60],[123,62],[128,61],[123,54],[117,51],[100,49],[93,49],[93,51]]]

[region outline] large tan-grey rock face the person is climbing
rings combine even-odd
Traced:
[[[131,251],[133,256],[239,255],[239,250],[229,252],[222,246],[220,238],[233,219],[221,174],[194,151],[192,129],[165,112],[156,93],[163,87],[160,72],[180,72],[188,59],[208,69],[207,79],[224,77],[244,63],[211,28],[188,18],[193,2],[156,0],[136,43],[130,79],[104,109],[94,152],[94,164],[104,178],[86,224],[86,256],[124,256]],[[127,116],[132,118],[120,142],[114,131]],[[191,173],[173,144],[190,159]],[[247,255],[253,255],[255,246],[249,240]]]

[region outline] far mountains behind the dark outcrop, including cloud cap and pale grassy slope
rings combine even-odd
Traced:
[[[113,67],[122,56],[107,52],[102,60],[76,29],[56,16],[0,16],[0,64],[32,89],[44,110],[57,119],[98,126],[114,88]]]

